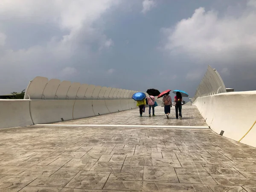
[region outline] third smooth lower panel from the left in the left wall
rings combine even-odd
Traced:
[[[92,105],[93,100],[76,100],[73,107],[73,119],[95,116]]]

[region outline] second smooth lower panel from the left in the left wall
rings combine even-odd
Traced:
[[[34,99],[30,101],[30,112],[35,124],[58,122],[73,119],[73,106],[75,100]]]

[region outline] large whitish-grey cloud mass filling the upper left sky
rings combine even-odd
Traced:
[[[16,81],[12,78],[20,76],[23,81],[17,79],[10,86],[11,83],[0,85],[0,92],[21,89],[35,76],[63,76],[63,79],[66,75],[74,76],[78,73],[74,66],[76,58],[80,65],[89,66],[100,54],[100,47],[113,46],[111,38],[104,34],[102,15],[118,3],[119,0],[1,0],[0,81]],[[13,33],[3,31],[20,31],[20,34],[41,39],[44,32],[36,33],[38,26],[54,32],[43,43],[31,41],[26,47],[22,38],[20,42],[17,38],[18,49],[10,43]]]

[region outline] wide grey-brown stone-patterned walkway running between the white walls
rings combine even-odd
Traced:
[[[184,108],[184,117],[192,117],[191,111],[198,122],[195,108]],[[129,116],[133,123],[149,119],[137,117],[134,111],[115,116],[121,114],[133,114]],[[87,120],[102,124],[112,115],[68,124],[89,124]],[[158,118],[162,125],[190,122],[189,118],[150,118]],[[0,192],[256,191],[256,148],[209,128],[37,125],[1,129],[0,135]]]

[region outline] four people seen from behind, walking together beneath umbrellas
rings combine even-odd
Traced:
[[[175,112],[176,112],[176,119],[180,117],[182,119],[181,108],[182,108],[182,95],[180,92],[176,93],[174,97],[174,102],[172,102],[171,96],[167,93],[163,96],[163,105],[164,105],[164,113],[166,114],[167,119],[169,119],[169,114],[171,113],[172,105],[175,105]],[[155,105],[155,98],[154,96],[147,96],[145,99],[141,101],[137,101],[137,106],[140,108],[140,116],[142,116],[143,112],[145,112],[145,107],[148,106],[148,113],[151,116],[151,108],[152,108],[152,115],[154,114],[154,105]]]

